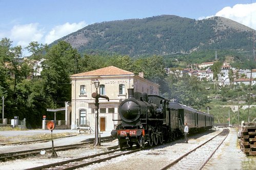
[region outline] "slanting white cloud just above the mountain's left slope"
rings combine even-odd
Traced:
[[[55,26],[46,36],[45,43],[50,44],[54,40],[66,36],[72,32],[80,30],[87,26],[87,24],[82,21],[80,23],[65,23],[64,25]]]

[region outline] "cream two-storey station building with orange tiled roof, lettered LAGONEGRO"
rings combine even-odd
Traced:
[[[94,86],[95,81],[100,82],[97,89]],[[112,131],[119,123],[118,107],[121,101],[128,98],[127,89],[133,88],[134,92],[159,95],[160,87],[159,84],[145,79],[143,73],[135,75],[113,66],[71,75],[71,83],[71,129],[87,127],[94,131],[96,110],[92,93],[97,91],[98,94],[109,98],[109,101],[99,98],[100,132]]]

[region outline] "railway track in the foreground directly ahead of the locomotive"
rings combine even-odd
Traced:
[[[109,151],[105,153],[100,153],[100,154],[95,154],[95,155],[90,155],[90,156],[85,156],[81,158],[75,158],[75,159],[70,159],[62,162],[57,162],[57,163],[51,163],[43,166],[37,166],[33,168],[28,168],[27,170],[36,170],[36,169],[76,169],[80,167],[85,167],[94,163],[100,163],[103,161],[110,160],[112,158],[120,157],[123,155],[128,155],[132,154],[134,152],[141,151],[141,149],[137,150],[132,150],[132,151],[121,151],[119,150],[114,150],[114,151]]]

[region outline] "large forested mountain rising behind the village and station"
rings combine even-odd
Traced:
[[[169,55],[204,49],[251,50],[255,30],[224,17],[195,20],[175,15],[115,20],[89,25],[59,40],[80,52]]]

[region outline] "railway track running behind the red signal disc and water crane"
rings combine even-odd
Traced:
[[[103,138],[101,142],[108,142],[113,140],[112,138],[109,139],[108,137]],[[72,150],[79,147],[85,147],[87,145],[92,144],[93,140],[88,140],[87,142],[82,142],[78,144],[71,144],[71,145],[63,145],[63,146],[55,146],[54,150],[57,151],[66,151],[66,150]],[[44,147],[44,148],[36,148],[33,150],[25,150],[25,151],[18,151],[18,152],[9,152],[9,153],[3,153],[0,154],[0,161],[8,161],[8,160],[15,160],[15,159],[22,159],[27,158],[29,156],[35,156],[40,154],[40,152],[44,150],[46,152],[52,152],[52,147]]]

